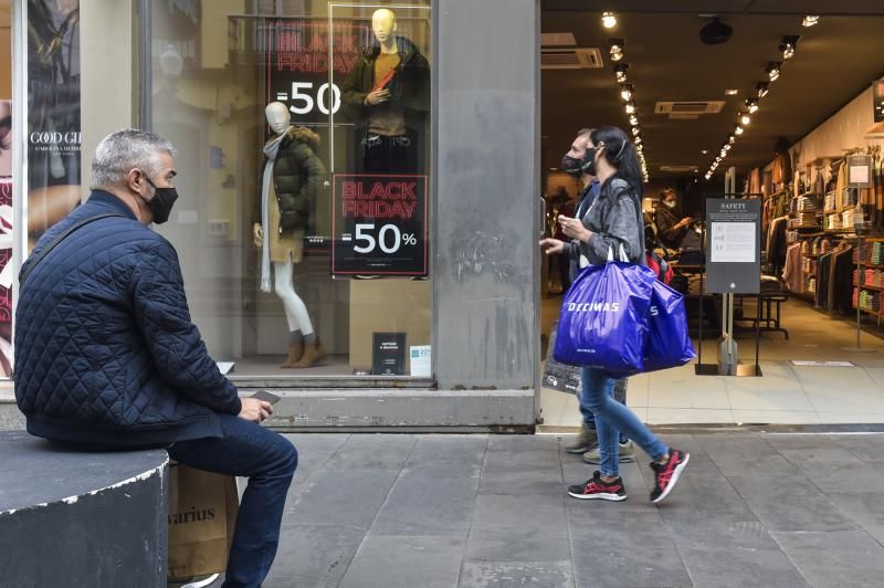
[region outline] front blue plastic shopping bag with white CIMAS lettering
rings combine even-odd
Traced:
[[[586,267],[565,295],[554,357],[620,374],[644,367],[654,273],[609,261]]]

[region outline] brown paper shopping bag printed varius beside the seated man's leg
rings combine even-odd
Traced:
[[[235,477],[171,463],[170,580],[227,569],[239,506]]]

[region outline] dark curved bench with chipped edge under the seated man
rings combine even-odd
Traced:
[[[0,586],[166,586],[169,456],[0,431]]]

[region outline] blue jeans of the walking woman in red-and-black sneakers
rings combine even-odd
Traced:
[[[659,460],[669,453],[669,448],[639,420],[634,412],[613,399],[617,380],[594,368],[581,368],[580,380],[581,405],[586,403],[596,416],[601,475],[611,477],[620,475],[618,431],[632,439],[652,460]]]

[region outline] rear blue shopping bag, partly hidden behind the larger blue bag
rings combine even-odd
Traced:
[[[697,356],[687,332],[684,296],[659,280],[651,294],[648,326],[643,371],[683,366]]]

